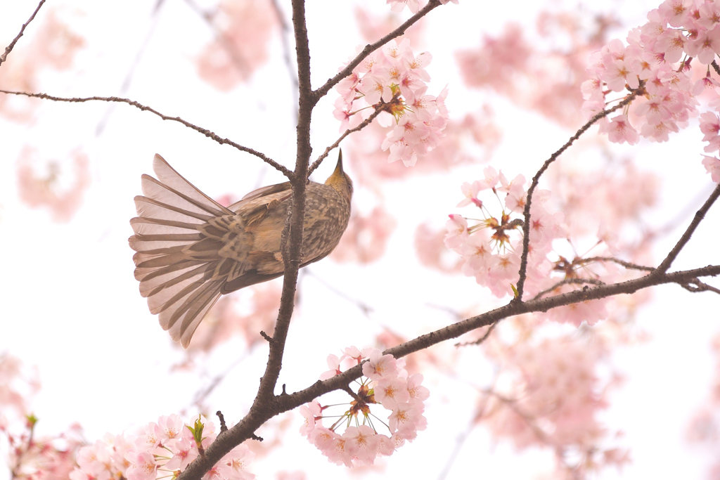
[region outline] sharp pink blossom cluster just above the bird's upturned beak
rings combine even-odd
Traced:
[[[448,120],[447,87],[438,96],[427,94],[425,68],[431,60],[427,52],[415,55],[408,39],[400,45],[392,40],[371,53],[336,86],[340,97],[333,114],[341,121],[340,131],[379,111],[384,127],[394,123],[382,142],[382,150],[390,150],[388,161],[415,165],[418,155],[438,146]]]

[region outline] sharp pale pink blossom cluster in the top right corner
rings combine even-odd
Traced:
[[[720,3],[666,0],[647,19],[629,32],[628,45],[611,40],[595,53],[588,68],[590,80],[582,84],[583,109],[589,114],[604,109],[611,91],[628,89],[637,94],[629,108],[601,121],[600,132],[607,133],[612,142],[634,145],[641,136],[668,140],[670,132],[687,127],[688,119],[698,114],[697,97],[706,92],[711,98],[709,107],[720,109],[716,91],[720,83],[710,69],[720,53]],[[693,73],[704,75],[693,80]],[[711,117],[716,115],[703,114],[701,121],[704,140],[710,141],[706,152],[720,149],[719,140],[705,130],[716,123]],[[706,157],[703,166],[713,181],[720,181],[720,160]]]

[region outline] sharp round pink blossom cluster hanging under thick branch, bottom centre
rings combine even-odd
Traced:
[[[428,389],[422,386],[423,376],[420,373],[408,375],[402,358],[382,355],[375,348],[361,351],[348,347],[340,358],[328,356],[330,370],[320,379],[329,379],[341,373],[341,366],[350,368],[359,363],[363,363],[359,389],[349,409],[333,425],[323,426],[323,418],[328,417],[328,413],[323,415],[323,412],[330,405],[323,406],[315,399],[300,407],[300,413],[305,417],[300,433],[330,461],[348,467],[372,465],[377,456],[390,456],[406,440],[412,441],[418,430],[426,427],[424,401],[430,395]],[[390,411],[387,421],[374,414],[371,405]],[[376,423],[384,425],[387,435],[377,431]],[[342,433],[341,427],[344,427]]]

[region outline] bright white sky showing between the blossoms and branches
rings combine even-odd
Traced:
[[[383,8],[382,1],[375,2]],[[251,86],[240,86],[229,95],[209,88],[197,78],[193,60],[212,35],[183,1],[166,3],[125,96],[163,113],[180,115],[291,166],[294,127],[287,104],[292,95],[284,65],[267,65],[256,73]],[[288,3],[282,2],[286,12]],[[606,3],[626,22],[618,37],[642,22],[644,12],[655,6],[647,1]],[[61,96],[118,94],[150,31],[153,4],[140,0],[48,2],[43,9],[61,6],[87,45],[78,56],[76,70],[48,73],[42,78],[41,91]],[[347,32],[353,21],[344,2],[313,0],[308,4],[312,78],[317,86],[336,72],[359,40]],[[14,1],[2,7],[0,45],[16,35],[34,8],[35,0]],[[431,91],[437,93],[449,83],[451,112],[474,107],[481,95],[462,91],[451,52],[477,45],[483,32],[498,32],[510,19],[531,22],[535,14],[534,1],[515,2],[510,7],[501,2],[462,0],[459,6],[438,9],[431,15],[428,39],[432,41],[426,45],[433,53],[428,69],[433,76]],[[11,59],[22,55],[23,44],[34,33],[32,27],[40,24],[28,28]],[[276,42],[273,52],[279,53],[279,48]],[[334,96],[315,114],[312,143],[316,153],[338,136],[338,125],[330,115],[332,101]],[[505,128],[503,145],[493,165],[513,176],[531,176],[549,153],[572,135],[506,101],[492,101],[497,121]],[[107,115],[106,127],[96,135],[97,125]],[[130,430],[159,415],[185,409],[207,379],[168,373],[181,355],[170,347],[168,335],[148,313],[132,276],[128,220],[135,216],[132,197],[140,194],[140,175],[152,173],[153,154],[161,153],[210,196],[242,196],[257,186],[258,178],[263,184],[281,178],[249,155],[237,155],[233,148],[216,145],[179,124],[162,122],[122,105],[45,103],[37,109],[30,126],[5,119],[0,122],[0,238],[6,252],[0,295],[5,307],[0,315],[0,352],[8,351],[28,366],[39,368],[43,389],[33,406],[40,417],[40,433],[57,433],[77,421],[93,441],[105,432]],[[518,124],[533,127],[510,127]],[[595,129],[589,135],[595,135]],[[665,178],[661,204],[648,222],[665,224],[696,201],[698,192],[711,188],[709,176],[700,166],[699,138],[698,130],[691,127],[666,144],[642,142],[633,149],[616,148],[618,152],[632,152],[640,165],[657,168]],[[72,222],[55,224],[44,210],[30,209],[17,200],[15,158],[26,142],[48,156],[61,157],[77,146],[89,154],[92,184]],[[367,267],[332,261],[312,266],[313,274],[370,304],[374,313],[365,317],[354,305],[306,278],[300,316],[291,327],[281,384],[287,382],[291,391],[305,388],[326,369],[328,353],[338,353],[348,345],[369,345],[382,325],[392,325],[413,336],[451,321],[428,304],[459,310],[470,305],[494,305],[496,301],[481,293],[472,279],[438,277],[418,270],[412,246],[415,225],[428,219],[435,225],[444,223],[446,214],[454,212],[459,184],[480,178],[481,167],[462,168],[446,178],[413,178],[386,189],[387,208],[399,219],[399,225],[382,261]],[[317,178],[325,178],[329,171],[329,165],[323,166]],[[362,199],[363,194],[359,195]],[[358,207],[363,209],[362,204]],[[658,243],[658,258],[675,243],[689,219]],[[716,248],[719,221],[715,207],[675,268],[720,263]],[[622,476],[704,475],[707,457],[688,448],[683,435],[693,409],[708,393],[713,366],[709,340],[717,331],[718,301],[711,294],[693,295],[678,286],[655,289],[654,301],[638,318],[639,325],[652,332],[652,343],[617,353],[616,364],[626,371],[629,381],[613,395],[613,405],[605,417],[612,429],[624,430],[624,444],[632,448],[634,464]],[[449,352],[452,347],[441,345],[436,350]],[[237,352],[238,346],[229,344],[207,358],[208,376],[224,371],[238,358]],[[472,362],[474,355],[465,353],[463,358]],[[220,408],[226,419],[238,420],[253,398],[265,360],[265,352],[256,351],[240,363],[210,397],[212,411]],[[432,373],[426,376],[433,377]],[[445,382],[442,388],[433,391],[428,403],[428,430],[390,458],[385,474],[388,478],[436,478],[443,468],[456,435],[464,431],[472,405],[462,380]],[[292,431],[302,423],[300,416],[294,415],[293,422]],[[312,478],[351,476],[344,468],[330,465],[299,436],[289,438],[281,453],[292,451],[299,457],[284,459],[276,452],[254,465],[253,471],[268,478],[277,468],[297,468],[298,458],[302,458],[301,464],[307,465]],[[507,443],[492,445],[483,430],[475,430],[448,478],[465,479],[469,474],[490,479],[526,478],[536,466],[549,468],[549,457],[538,452],[514,456]],[[615,475],[606,471],[601,478]]]

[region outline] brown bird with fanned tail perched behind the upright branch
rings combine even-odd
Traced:
[[[138,217],[128,241],[135,279],[150,313],[184,348],[222,294],[284,273],[280,237],[290,205],[290,183],[265,186],[222,207],[160,156],[158,180],[143,175],[135,197]],[[324,258],[340,242],[350,218],[353,182],[342,153],[325,184],[307,184],[301,267]]]

